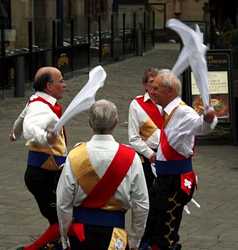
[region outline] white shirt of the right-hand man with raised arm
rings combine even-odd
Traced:
[[[199,116],[193,108],[187,105],[180,105],[180,103],[181,98],[177,97],[164,108],[163,111],[170,115],[177,107],[164,131],[170,146],[188,158],[193,155],[195,136],[211,132],[217,124],[217,117],[209,124],[204,121],[203,115]],[[166,160],[160,146],[156,159],[160,161]]]

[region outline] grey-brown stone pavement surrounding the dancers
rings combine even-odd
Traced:
[[[120,124],[115,131],[117,140],[127,143],[127,112],[130,100],[142,91],[141,76],[145,68],[168,68],[176,60],[176,45],[159,45],[143,57],[106,65],[108,78],[97,99],[115,102],[120,112]],[[87,74],[75,73],[67,81],[63,100],[67,106],[87,81]],[[0,93],[0,250],[16,249],[31,242],[47,227],[24,185],[27,149],[24,141],[8,141],[12,122],[24,107],[25,98],[1,99]],[[91,131],[87,115],[78,115],[67,124],[69,148],[78,141],[87,140]],[[184,250],[238,249],[238,147],[231,145],[198,146],[194,167],[199,174],[195,199],[197,209],[190,205],[192,215],[184,214],[181,242]],[[95,249],[96,250],[96,249]]]

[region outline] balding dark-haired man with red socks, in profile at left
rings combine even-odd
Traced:
[[[35,93],[14,123],[10,139],[15,140],[23,128],[29,147],[25,184],[50,226],[35,242],[19,248],[25,250],[40,249],[59,236],[55,192],[67,154],[63,129],[57,135],[50,132],[62,115],[57,103],[66,87],[61,72],[54,67],[40,68],[33,87]]]

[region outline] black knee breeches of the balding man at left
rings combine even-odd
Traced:
[[[48,171],[27,166],[25,184],[33,194],[41,214],[50,224],[58,223],[56,211],[56,188],[61,171]]]

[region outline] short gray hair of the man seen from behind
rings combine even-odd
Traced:
[[[89,125],[97,134],[110,134],[118,123],[117,107],[107,100],[96,101],[89,110]]]

